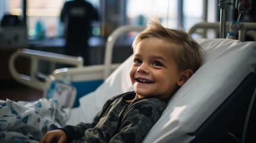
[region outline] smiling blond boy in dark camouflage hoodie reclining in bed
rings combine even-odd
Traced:
[[[92,123],[47,132],[41,142],[141,142],[166,102],[199,69],[203,50],[187,33],[149,23],[132,43],[134,92],[108,100]]]

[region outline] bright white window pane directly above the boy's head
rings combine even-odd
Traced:
[[[165,27],[177,28],[178,0],[127,1],[127,24],[146,25],[149,18],[154,16],[157,16]]]

